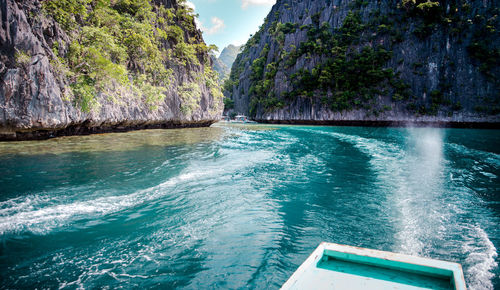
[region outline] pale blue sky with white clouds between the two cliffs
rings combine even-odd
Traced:
[[[198,26],[207,44],[219,51],[229,44],[246,43],[276,0],[189,0],[200,16]]]

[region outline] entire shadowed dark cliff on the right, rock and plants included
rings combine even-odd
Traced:
[[[278,0],[225,83],[260,121],[500,122],[498,1]]]

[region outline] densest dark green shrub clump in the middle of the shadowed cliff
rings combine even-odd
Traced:
[[[289,55],[288,63],[299,56],[316,53],[324,61],[311,71],[299,70],[292,75],[293,90],[286,97],[322,95],[321,101],[333,111],[349,110],[370,104],[382,90],[395,86],[395,93],[407,96],[393,70],[384,68],[391,59],[391,51],[382,46],[361,45],[361,32],[365,29],[360,16],[350,12],[340,29],[331,32],[328,23],[304,27],[308,41],[302,43],[297,54]],[[353,48],[354,45],[359,48]]]

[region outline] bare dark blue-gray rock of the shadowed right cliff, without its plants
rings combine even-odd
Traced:
[[[260,52],[266,45],[270,51],[266,65],[279,59],[280,51],[277,42],[269,31],[273,22],[291,22],[298,27],[312,23],[312,16],[319,13],[320,23],[328,22],[332,31],[342,26],[343,20],[353,5],[359,1],[331,0],[278,0],[267,16],[266,22],[261,30],[260,40],[253,46],[246,44],[246,50],[240,53],[233,64],[232,72],[240,67],[243,68],[238,83],[232,91],[225,92],[226,97],[232,98],[235,103],[235,111],[249,114],[249,106],[252,99],[250,87],[252,85],[251,67],[252,62],[259,57]],[[400,3],[399,1],[397,1]],[[440,5],[448,3],[440,1]],[[498,11],[498,1],[468,1],[470,13],[460,15],[464,21],[468,21],[470,15],[488,15],[491,11]],[[448,4],[449,5],[449,4]],[[359,13],[364,23],[368,23],[371,12],[380,11],[381,16],[387,16],[393,20],[393,15],[403,13],[397,8],[395,1],[368,0],[364,1],[359,8]],[[352,109],[341,112],[332,111],[323,105],[318,98],[299,96],[293,101],[284,100],[284,94],[291,89],[289,77],[299,69],[311,70],[316,64],[324,61],[322,56],[312,54],[311,57],[300,56],[295,65],[285,68],[280,65],[274,79],[273,92],[285,103],[285,107],[266,111],[261,105],[257,107],[255,120],[267,122],[322,122],[322,121],[384,121],[384,122],[500,122],[500,114],[486,114],[478,110],[478,107],[500,108],[500,87],[498,66],[493,68],[497,76],[495,80],[488,79],[480,70],[480,63],[471,58],[467,47],[473,40],[473,33],[479,28],[475,23],[471,24],[469,30],[459,36],[451,33],[451,28],[445,25],[437,25],[425,38],[415,36],[415,29],[420,20],[413,18],[406,22],[396,22],[401,31],[402,41],[392,45],[392,58],[386,64],[400,74],[401,80],[410,85],[411,94],[414,96],[412,102],[428,106],[431,102],[429,93],[441,89],[440,84],[446,83],[445,93],[452,103],[460,103],[460,110],[452,109],[451,105],[441,106],[434,115],[421,115],[414,110],[408,109],[409,101],[393,101],[390,95],[377,96],[375,108],[382,106],[390,107],[390,110],[380,110],[376,115],[371,110]],[[499,31],[498,20],[495,21],[495,29]],[[363,33],[374,33],[374,28],[369,27]],[[384,34],[373,34],[373,40],[368,45],[382,44],[387,46],[391,39]],[[498,33],[497,33],[498,35]],[[305,31],[297,29],[295,32],[285,35],[283,48],[289,52],[292,45],[299,47],[307,41]],[[493,47],[500,47],[500,38],[491,40]],[[367,45],[364,43],[363,45]],[[355,49],[359,49],[355,48]],[[414,72],[413,65],[421,63],[422,67],[418,74]]]

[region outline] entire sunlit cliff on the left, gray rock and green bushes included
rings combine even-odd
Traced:
[[[111,2],[0,0],[0,139],[220,118],[208,49],[183,1]]]

